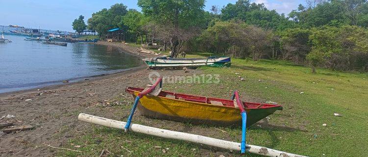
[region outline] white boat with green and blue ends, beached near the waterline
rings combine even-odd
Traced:
[[[230,57],[209,57],[209,58],[170,58],[158,57],[142,59],[149,69],[156,68],[197,68],[200,66],[230,67]]]

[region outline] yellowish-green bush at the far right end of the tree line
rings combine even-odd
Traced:
[[[368,31],[358,26],[325,26],[312,30],[312,51],[307,58],[312,70],[323,65],[335,70],[364,67],[368,61]]]

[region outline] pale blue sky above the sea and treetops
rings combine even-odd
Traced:
[[[1,18],[0,25],[18,25],[31,28],[73,31],[72,22],[79,15],[85,17],[85,21],[92,13],[103,8],[109,8],[115,3],[123,3],[128,8],[141,9],[137,6],[137,0],[0,0]],[[210,11],[212,5],[222,7],[237,0],[206,0],[206,11]],[[275,9],[279,13],[288,14],[297,6],[305,3],[305,0],[251,0],[256,3],[264,3],[268,9]]]

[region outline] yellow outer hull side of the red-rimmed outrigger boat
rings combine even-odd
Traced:
[[[130,93],[135,98],[139,91]],[[241,115],[237,107],[147,95],[140,98],[137,108],[141,115],[149,118],[219,126],[241,125]],[[268,108],[246,108],[247,127],[280,108],[282,108],[280,105]]]

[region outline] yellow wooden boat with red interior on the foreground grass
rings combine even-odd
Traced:
[[[137,97],[145,89],[128,87],[126,92]],[[247,112],[247,127],[262,120],[281,105],[242,102]],[[233,100],[160,91],[157,96],[146,95],[139,100],[141,115],[179,122],[210,125],[241,125],[239,107]]]

